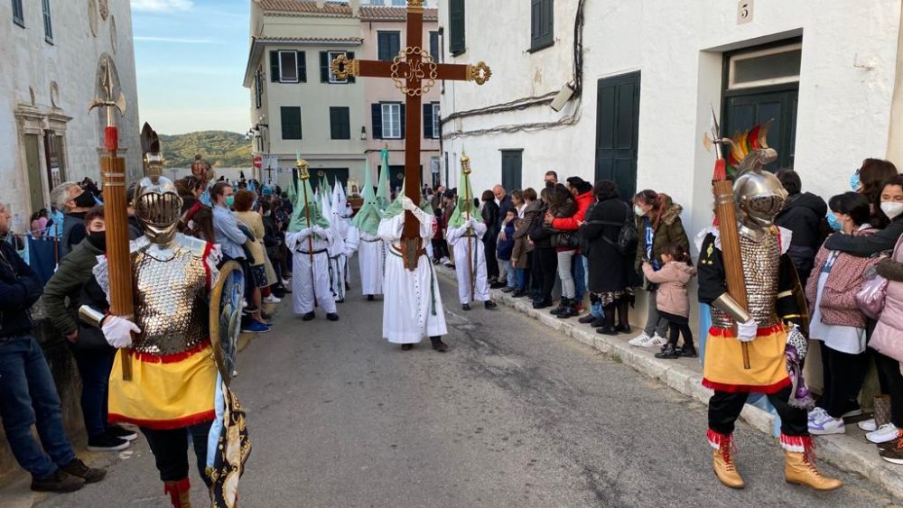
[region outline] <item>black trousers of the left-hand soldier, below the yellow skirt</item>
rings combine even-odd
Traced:
[[[194,455],[198,461],[198,472],[207,486],[210,480],[204,471],[207,468],[207,438],[211,421],[172,430],[155,430],[140,427],[147,445],[154,452],[160,479],[164,482],[178,482],[188,477],[188,435],[194,442]]]

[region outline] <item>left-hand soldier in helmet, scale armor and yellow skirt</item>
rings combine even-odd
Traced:
[[[109,419],[142,430],[173,506],[191,506],[189,432],[214,505],[234,506],[237,476],[250,448],[244,413],[226,386],[231,370],[218,369],[214,349],[220,341],[211,344],[210,291],[220,275],[219,247],[176,231],[181,208],[172,181],[152,176],[138,183],[135,215],[145,235],[131,246],[134,322],[88,307],[80,314],[120,348],[109,384]],[[106,289],[107,263],[98,263],[95,276]],[[219,313],[219,300],[216,306]],[[124,362],[131,364],[130,380],[119,375]],[[230,443],[223,441],[227,429],[232,430]],[[218,444],[237,455],[224,464],[224,457],[217,457]],[[230,473],[233,484],[224,485]]]

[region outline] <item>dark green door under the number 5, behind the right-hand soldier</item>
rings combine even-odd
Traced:
[[[768,164],[768,171],[792,168],[796,144],[796,104],[799,90],[747,93],[724,97],[725,115],[722,134],[733,136],[757,124],[772,121],[768,131],[768,146],[777,150],[777,162]]]

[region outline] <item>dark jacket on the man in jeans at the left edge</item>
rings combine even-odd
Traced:
[[[13,245],[0,243],[0,337],[32,331],[29,309],[42,292],[40,277],[19,257]]]

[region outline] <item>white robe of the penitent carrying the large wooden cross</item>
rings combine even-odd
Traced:
[[[417,208],[422,248],[433,236],[432,215]],[[417,270],[405,269],[400,245],[405,214],[385,218],[379,223],[379,237],[390,245],[386,255],[386,277],[383,280],[383,337],[394,344],[415,344],[424,337],[441,337],[448,333],[442,309],[439,280],[433,263],[426,255],[417,261]]]

